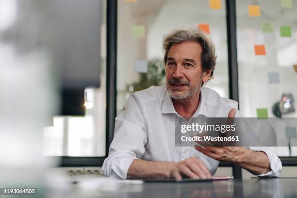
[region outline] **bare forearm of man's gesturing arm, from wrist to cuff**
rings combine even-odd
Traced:
[[[261,175],[271,170],[266,153],[243,148],[242,155],[234,162],[254,175]]]

